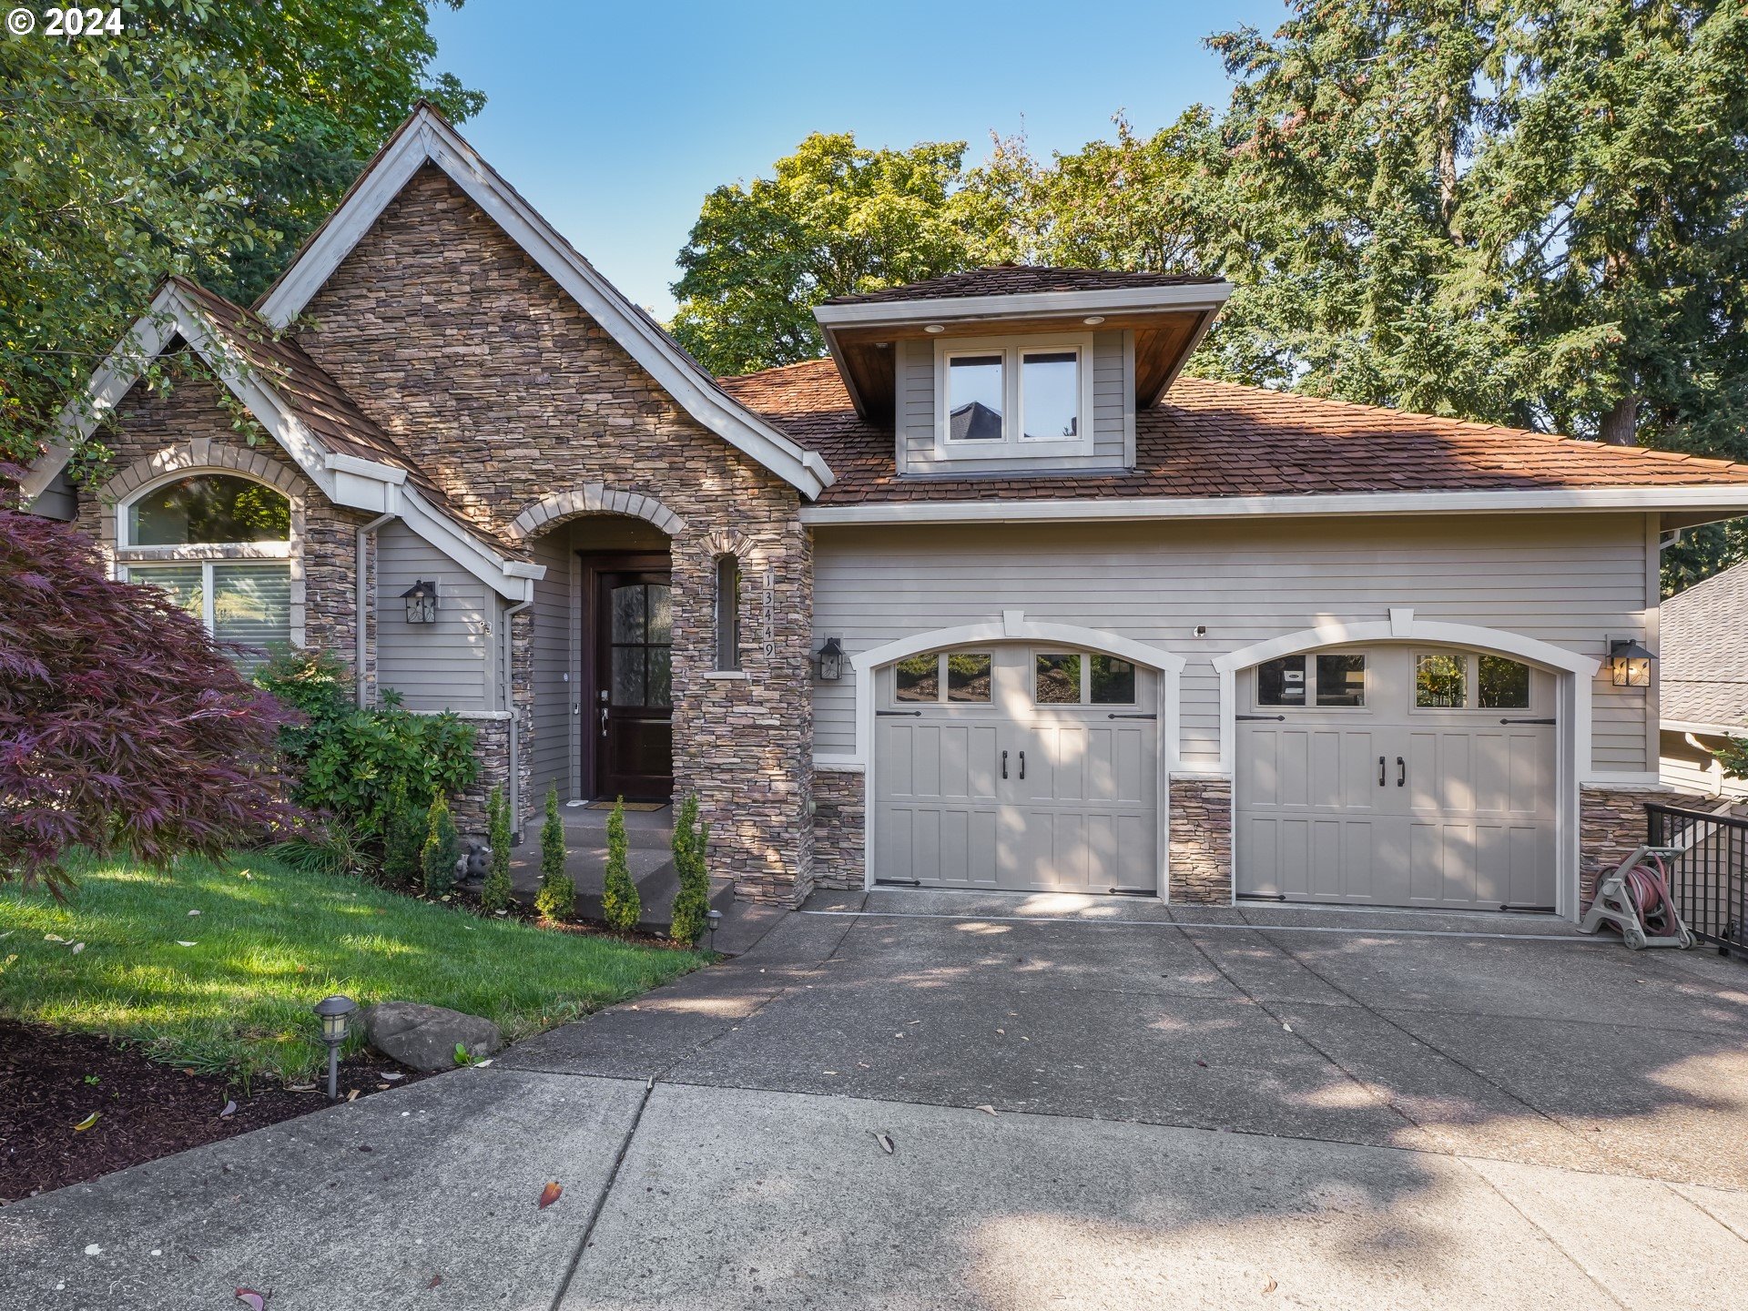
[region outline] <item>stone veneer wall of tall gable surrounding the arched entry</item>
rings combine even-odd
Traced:
[[[687,416],[432,166],[304,316],[302,346],[482,528],[507,535],[530,505],[586,484],[652,496],[683,521],[671,538],[675,787],[699,795],[717,869],[743,895],[804,897],[813,561],[795,489]],[[741,558],[745,678],[706,676],[725,544]],[[530,614],[512,622],[526,769]],[[503,780],[503,766],[493,767],[486,787]],[[538,801],[523,788],[524,818]]]

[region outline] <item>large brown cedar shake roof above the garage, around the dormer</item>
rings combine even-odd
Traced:
[[[1748,486],[1748,465],[1180,378],[1136,414],[1136,467],[898,477],[893,430],[857,416],[832,360],[722,379],[830,463],[820,505],[858,502],[1283,496],[1367,491]]]

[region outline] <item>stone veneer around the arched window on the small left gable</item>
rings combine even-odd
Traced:
[[[79,489],[80,530],[115,559],[117,491],[156,477],[166,453],[189,468],[222,468],[267,481],[292,496],[294,633],[301,612],[306,647],[334,652],[350,669],[357,661],[357,596],[353,593],[355,530],[367,516],[329,503],[302,470],[266,434],[252,446],[231,427],[217,385],[199,374],[182,376],[164,392],[135,386],[115,407],[115,425],[100,434],[110,449],[103,482]],[[187,456],[194,456],[189,460]],[[114,481],[115,489],[107,488]]]

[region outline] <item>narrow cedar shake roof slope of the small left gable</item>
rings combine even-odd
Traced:
[[[517,559],[526,558],[521,547],[500,540],[489,528],[463,516],[430,474],[407,458],[395,439],[383,432],[302,346],[290,337],[276,337],[273,327],[259,315],[199,283],[187,278],[171,281],[206,313],[248,367],[260,374],[327,451],[404,470],[407,482],[432,503],[432,509],[454,519],[474,537],[486,538],[493,549]]]

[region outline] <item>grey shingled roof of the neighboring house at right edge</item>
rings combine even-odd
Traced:
[[[1664,724],[1748,727],[1748,565],[1664,601],[1657,650]]]

